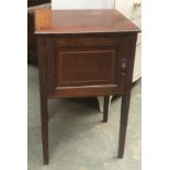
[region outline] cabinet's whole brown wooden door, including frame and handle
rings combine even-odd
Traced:
[[[128,54],[126,41],[100,47],[97,44],[68,47],[68,43],[66,47],[58,47],[55,42],[52,38],[47,43],[49,94],[65,95],[67,91],[68,95],[69,91],[77,97],[81,95],[78,90],[81,89],[82,95],[88,95],[89,90],[93,91],[93,95],[102,95],[106,89],[109,93],[123,90]]]

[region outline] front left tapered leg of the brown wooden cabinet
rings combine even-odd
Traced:
[[[48,111],[47,111],[47,81],[46,81],[46,39],[38,37],[38,72],[39,72],[39,95],[41,95],[41,121],[44,165],[48,165]]]

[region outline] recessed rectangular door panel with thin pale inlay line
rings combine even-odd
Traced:
[[[115,83],[115,49],[64,48],[56,55],[57,87]]]

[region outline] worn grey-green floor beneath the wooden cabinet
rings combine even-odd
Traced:
[[[43,166],[38,72],[29,65],[29,170],[140,170],[140,80],[132,89],[125,154],[117,159],[121,98],[112,101],[109,122],[95,98],[55,99],[49,110],[49,165]]]

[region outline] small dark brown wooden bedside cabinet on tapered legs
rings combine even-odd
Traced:
[[[116,10],[36,11],[45,165],[52,98],[104,97],[106,122],[110,95],[122,95],[118,158],[123,157],[138,32]]]

